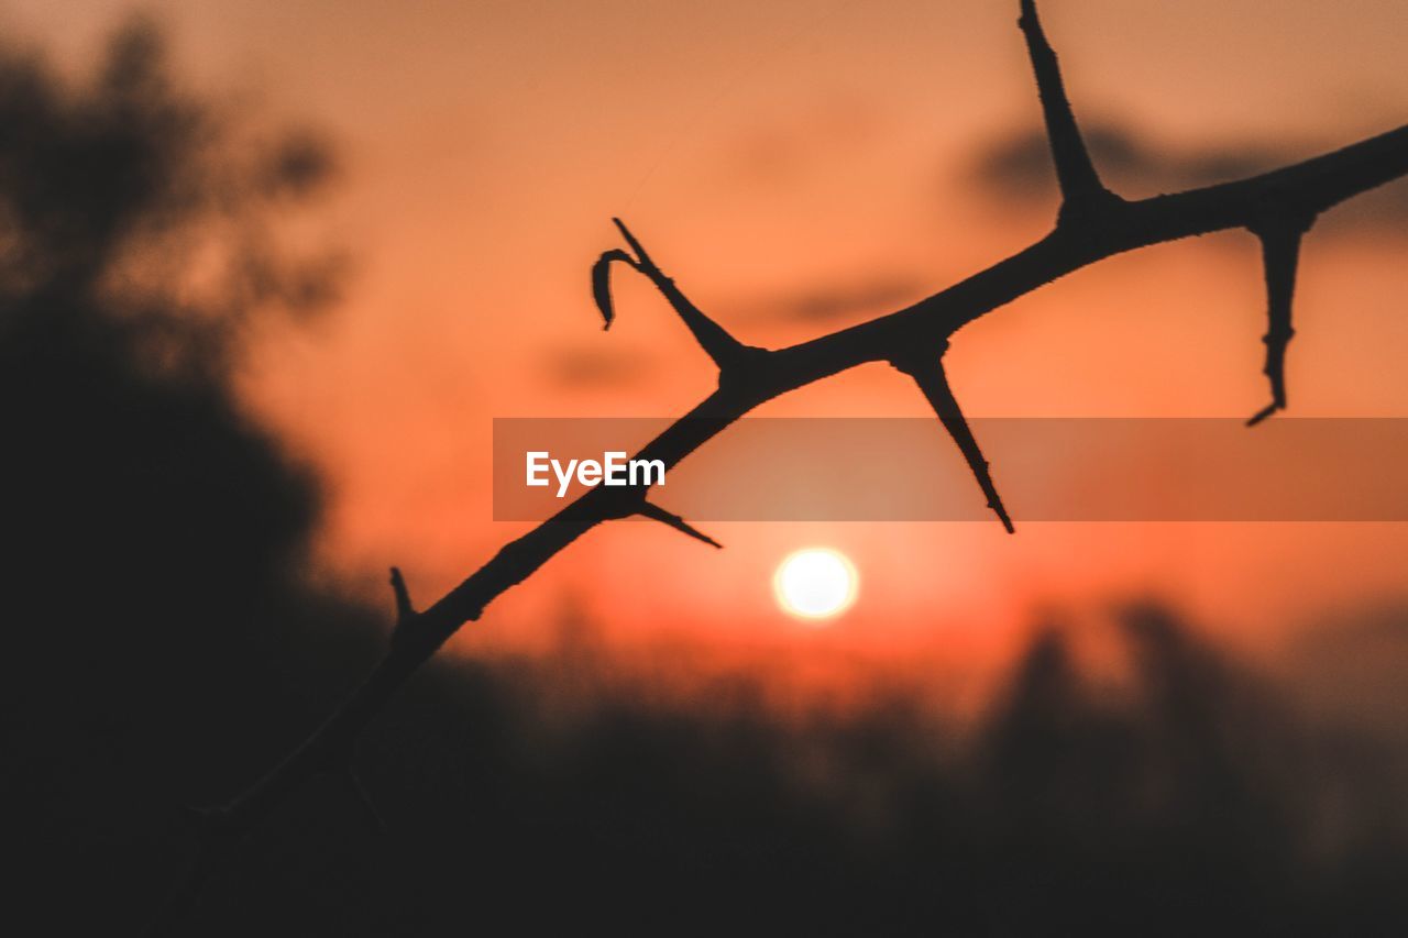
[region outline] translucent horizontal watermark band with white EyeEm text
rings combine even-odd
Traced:
[[[642,448],[674,423],[496,418],[494,518],[541,521],[597,486],[662,484],[669,448]],[[1018,527],[1408,523],[1408,418],[1277,417],[1256,430],[1239,418],[970,423]],[[669,483],[663,504],[691,523],[993,523],[972,469],[932,417],[748,417],[670,463]],[[620,504],[594,499],[586,510]]]

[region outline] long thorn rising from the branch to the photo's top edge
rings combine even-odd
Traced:
[[[1056,163],[1056,179],[1062,192],[1062,218],[1070,220],[1083,211],[1097,207],[1101,203],[1117,199],[1100,182],[1100,173],[1090,159],[1086,141],[1080,135],[1080,125],[1076,124],[1076,113],[1070,108],[1070,99],[1066,96],[1066,83],[1060,76],[1060,62],[1056,51],[1046,41],[1041,17],[1036,14],[1035,0],[1021,0],[1022,15],[1017,25],[1026,37],[1026,51],[1032,58],[1032,70],[1036,73],[1036,93],[1042,100],[1042,113],[1046,118],[1046,138],[1052,148],[1052,161]]]

